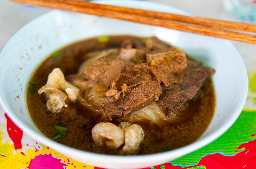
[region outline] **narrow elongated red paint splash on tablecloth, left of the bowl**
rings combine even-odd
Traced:
[[[11,140],[14,143],[14,149],[15,150],[21,149],[22,148],[21,139],[23,136],[23,131],[21,129],[19,129],[16,124],[14,124],[12,122],[12,120],[8,117],[8,115],[6,113],[4,113],[4,116],[7,121],[7,125],[6,125],[7,132],[8,132],[9,137],[11,138]]]

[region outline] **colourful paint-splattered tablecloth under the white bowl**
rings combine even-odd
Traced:
[[[209,145],[169,163],[147,169],[256,168],[256,73],[249,72],[249,93],[232,127]],[[70,159],[23,133],[0,108],[0,169],[93,169]]]

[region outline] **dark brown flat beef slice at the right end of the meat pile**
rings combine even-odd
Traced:
[[[191,100],[215,73],[211,68],[203,67],[201,62],[188,59],[188,66],[178,75],[180,84],[163,86],[163,93],[157,102],[167,117],[171,117],[183,104]]]

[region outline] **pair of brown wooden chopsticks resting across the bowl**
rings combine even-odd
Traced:
[[[160,26],[179,31],[256,44],[256,25],[210,18],[102,5],[75,0],[11,0],[35,6],[80,12],[109,18]],[[242,33],[248,32],[248,33]]]

